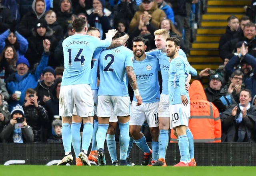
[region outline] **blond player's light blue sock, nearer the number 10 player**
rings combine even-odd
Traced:
[[[158,137],[158,146],[159,146],[159,158],[164,158],[166,156],[166,149],[168,146],[169,140],[169,132],[165,129],[160,129],[159,137]]]

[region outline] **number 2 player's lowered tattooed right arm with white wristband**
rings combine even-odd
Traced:
[[[142,104],[142,98],[141,98],[140,92],[138,90],[136,75],[133,71],[132,66],[126,66],[125,68],[126,68],[126,73],[127,73],[129,83],[134,91],[135,98],[137,99],[137,106],[140,106]]]

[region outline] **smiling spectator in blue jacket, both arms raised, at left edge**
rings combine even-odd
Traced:
[[[7,45],[14,46],[18,56],[24,55],[28,50],[28,41],[17,31],[6,30],[0,35],[0,53]]]

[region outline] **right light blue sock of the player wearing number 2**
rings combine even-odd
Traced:
[[[120,160],[126,160],[129,147],[129,121],[126,123],[118,123],[120,129],[119,144],[120,144]]]

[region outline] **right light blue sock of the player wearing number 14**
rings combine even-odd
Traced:
[[[82,134],[82,150],[84,153],[88,153],[89,146],[92,141],[92,123],[84,123],[84,129]]]

